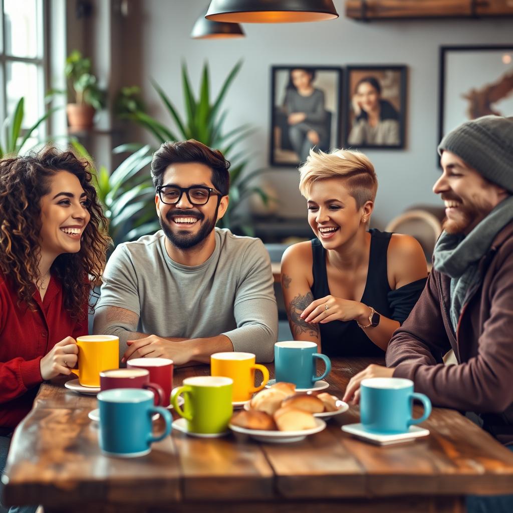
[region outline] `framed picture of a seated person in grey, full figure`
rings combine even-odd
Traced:
[[[342,69],[272,66],[271,166],[299,166],[310,148],[340,144]]]

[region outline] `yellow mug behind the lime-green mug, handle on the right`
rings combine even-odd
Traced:
[[[263,374],[260,386],[254,386],[255,370],[257,369]],[[233,380],[233,402],[249,401],[253,392],[262,390],[269,381],[267,367],[255,363],[253,353],[237,351],[212,354],[210,357],[210,374],[212,376],[224,376]]]

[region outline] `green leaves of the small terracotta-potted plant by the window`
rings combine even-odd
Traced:
[[[95,110],[105,107],[105,92],[98,87],[96,76],[91,73],[89,57],[73,50],[66,59],[66,76],[75,91],[76,103],[91,105]]]

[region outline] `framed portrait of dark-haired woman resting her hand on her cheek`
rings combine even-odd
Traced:
[[[348,66],[346,148],[404,148],[406,66]]]

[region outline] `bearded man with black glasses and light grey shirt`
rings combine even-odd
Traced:
[[[269,255],[259,239],[215,228],[228,207],[229,167],[194,140],[154,153],[162,230],[116,247],[94,316],[94,333],[120,338],[122,363],[209,363],[220,351],[272,360],[278,313]]]

